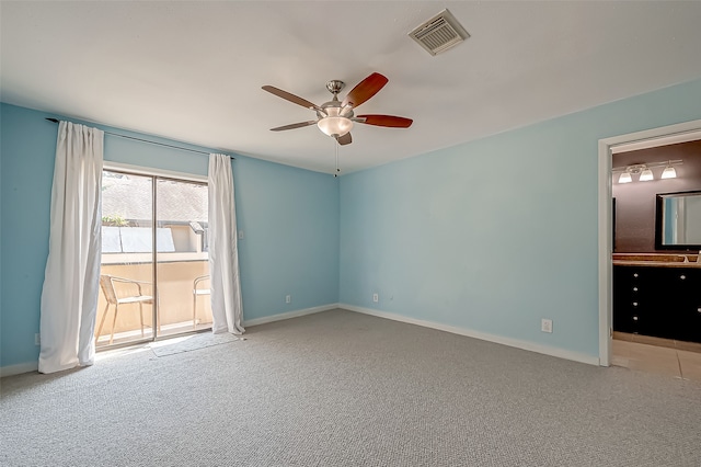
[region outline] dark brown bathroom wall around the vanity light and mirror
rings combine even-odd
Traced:
[[[676,179],[660,180],[664,168],[653,169],[655,180],[618,183],[613,176],[613,198],[616,200],[614,252],[655,252],[655,196],[657,193],[701,190],[701,140],[660,146],[657,148],[614,153],[612,167],[632,166],[645,162],[664,162],[681,159],[675,166]]]

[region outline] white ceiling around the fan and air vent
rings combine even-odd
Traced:
[[[1,99],[30,109],[323,172],[334,140],[314,113],[389,83],[357,113],[343,172],[379,166],[701,77],[701,2],[7,2]],[[444,8],[471,34],[432,57],[406,34]],[[654,109],[651,109],[653,112]]]

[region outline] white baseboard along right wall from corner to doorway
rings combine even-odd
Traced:
[[[426,321],[423,319],[407,318],[402,315],[393,312],[379,311],[371,308],[356,307],[355,305],[338,304],[338,308],[349,311],[361,312],[364,315],[371,315],[378,318],[391,319],[394,321],[406,322],[410,324],[423,326],[424,328],[437,329],[439,331],[446,331],[453,334],[466,335],[468,338],[480,339],[483,341],[494,342],[497,344],[508,345],[516,349],[521,349],[530,352],[542,353],[544,355],[556,356],[559,358],[572,360],[574,362],[586,363],[589,365],[599,366],[599,357],[583,354],[579,352],[572,352],[550,345],[537,344],[533,342],[521,341],[518,339],[505,338],[503,335],[489,334],[485,332],[473,331],[467,328],[459,328],[457,326],[443,324],[440,322]]]

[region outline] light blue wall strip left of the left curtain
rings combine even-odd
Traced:
[[[2,296],[0,366],[36,361],[39,298],[48,253],[49,205],[56,150],[55,124],[4,104],[2,140]]]

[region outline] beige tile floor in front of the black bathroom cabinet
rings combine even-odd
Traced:
[[[611,364],[701,381],[701,344],[613,333]]]

